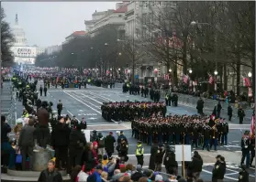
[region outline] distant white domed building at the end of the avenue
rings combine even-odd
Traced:
[[[15,62],[17,64],[35,64],[35,59],[42,53],[43,48],[30,47],[27,45],[27,38],[25,31],[18,25],[18,18],[16,15],[15,26],[12,27],[12,33],[15,37],[15,42],[11,48]]]

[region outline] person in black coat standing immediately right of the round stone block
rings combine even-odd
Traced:
[[[55,149],[56,167],[62,169],[67,165],[71,130],[63,117],[59,116],[58,120],[59,123],[57,123],[51,133],[51,145]]]

